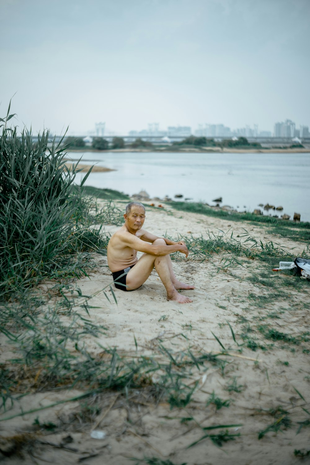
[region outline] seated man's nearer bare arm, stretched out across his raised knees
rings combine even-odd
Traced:
[[[145,236],[145,234],[143,234],[143,236]],[[150,234],[150,236],[152,236],[154,240],[159,239],[157,236],[153,236],[152,234]],[[150,237],[150,236],[147,236],[147,237]],[[185,254],[186,257],[188,257],[188,253],[189,253],[187,247],[183,244],[179,244],[178,242],[175,242],[171,245],[166,245],[166,246],[164,245],[153,246],[152,244],[146,243],[149,241],[141,240],[138,237],[130,233],[122,233],[121,241],[125,246],[131,247],[134,250],[138,250],[138,252],[149,253],[150,255],[156,255],[158,257],[169,255],[170,253],[173,253],[173,252],[182,252]]]

